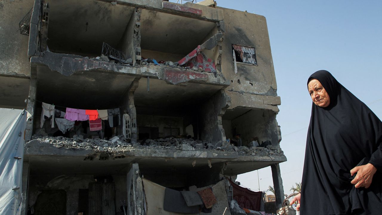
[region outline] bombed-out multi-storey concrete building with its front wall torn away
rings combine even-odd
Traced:
[[[191,191],[261,168],[281,206],[264,16],[212,0],[15,0],[0,2],[0,19],[0,107],[32,114],[22,214],[167,214],[148,183]],[[115,112],[94,131],[62,124],[68,108]]]

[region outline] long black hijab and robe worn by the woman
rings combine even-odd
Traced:
[[[382,214],[382,122],[326,70],[313,73],[330,97],[312,103],[301,189],[301,215]],[[368,189],[350,183],[363,158],[379,171]]]

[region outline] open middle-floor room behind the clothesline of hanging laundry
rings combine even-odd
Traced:
[[[48,67],[37,66],[37,93],[36,110],[34,120],[35,134],[40,129],[49,136],[73,137],[74,134],[81,134],[84,138],[92,138],[99,135],[96,132],[88,133],[88,121],[76,121],[76,126],[82,127],[82,131],[74,134],[63,134],[55,129],[51,129],[51,119],[46,119],[43,127],[40,127],[40,117],[42,112],[42,102],[55,105],[55,109],[66,111],[66,108],[103,110],[120,108],[126,89],[133,82],[134,77],[97,71],[82,71],[64,76]],[[122,114],[121,114],[122,115]],[[117,119],[118,120],[118,119]],[[87,125],[85,124],[87,123]],[[112,125],[114,126],[114,125]],[[102,137],[112,137],[120,135],[116,127],[110,127],[108,120],[102,120]],[[105,130],[105,129],[108,130]],[[111,129],[111,130],[110,130]],[[42,132],[42,136],[46,134]],[[73,132],[73,131],[71,131]],[[77,135],[78,135],[77,134]]]

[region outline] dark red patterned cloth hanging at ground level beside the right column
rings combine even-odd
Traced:
[[[241,187],[229,180],[233,188],[233,199],[238,202],[241,208],[249,210],[260,210],[262,192],[253,192],[245,187]]]

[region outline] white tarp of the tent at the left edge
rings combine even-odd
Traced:
[[[27,111],[0,108],[0,214],[2,215],[20,213],[27,115],[29,115]]]

